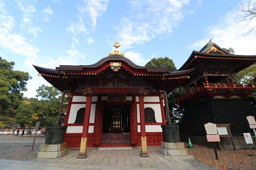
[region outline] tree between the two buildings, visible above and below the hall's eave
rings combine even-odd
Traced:
[[[176,71],[176,67],[172,59],[165,58],[152,58],[151,61],[146,63],[146,67],[167,67],[172,71]],[[172,124],[178,124],[183,116],[184,109],[177,104],[177,98],[185,94],[185,89],[183,87],[178,87],[171,94],[168,94],[168,105],[170,109],[170,117]]]

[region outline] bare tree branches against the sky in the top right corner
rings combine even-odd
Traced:
[[[242,21],[246,21],[247,25],[250,25],[251,22],[256,18],[256,1],[242,1],[240,2],[241,9],[243,12]],[[256,25],[250,25],[248,33],[254,32]]]

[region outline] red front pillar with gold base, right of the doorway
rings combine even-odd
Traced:
[[[144,114],[144,96],[139,96],[139,114],[141,117],[141,156],[148,156]]]

